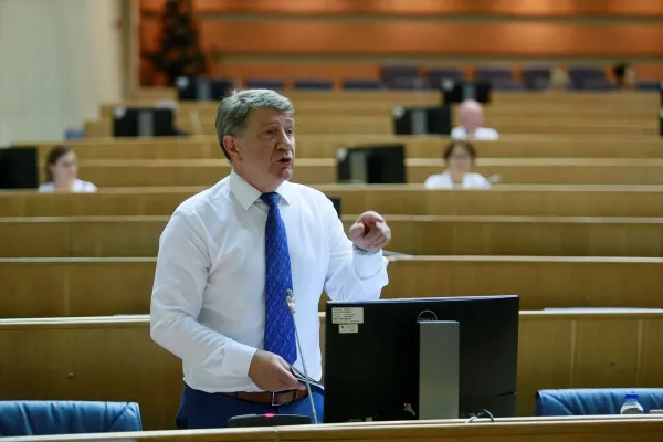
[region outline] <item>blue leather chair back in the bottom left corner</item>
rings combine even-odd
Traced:
[[[0,401],[0,438],[143,431],[135,402]]]

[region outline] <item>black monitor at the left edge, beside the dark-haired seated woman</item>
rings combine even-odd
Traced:
[[[36,189],[38,167],[36,147],[0,148],[0,189]]]

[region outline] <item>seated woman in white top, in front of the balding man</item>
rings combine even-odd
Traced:
[[[442,155],[446,161],[444,173],[431,175],[423,186],[427,189],[490,189],[491,182],[480,173],[470,170],[476,159],[476,149],[471,143],[455,139],[444,148]]]

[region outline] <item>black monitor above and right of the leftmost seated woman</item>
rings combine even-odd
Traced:
[[[175,110],[160,107],[116,107],[113,112],[114,137],[170,137]]]

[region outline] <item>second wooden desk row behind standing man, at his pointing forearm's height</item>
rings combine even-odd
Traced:
[[[155,262],[0,259],[0,317],[148,313]],[[390,256],[381,297],[511,293],[520,296],[523,309],[661,308],[662,264],[656,257]]]

